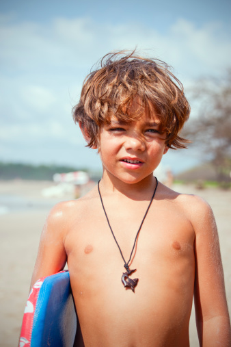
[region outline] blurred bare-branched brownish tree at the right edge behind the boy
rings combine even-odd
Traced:
[[[202,79],[191,90],[195,117],[182,136],[204,153],[219,181],[230,181],[231,171],[231,70],[226,79]]]

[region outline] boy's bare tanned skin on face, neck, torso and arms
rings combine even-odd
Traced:
[[[126,260],[156,185],[152,172],[167,153],[165,138],[159,120],[145,115],[131,123],[112,118],[100,129],[100,192]],[[216,224],[198,196],[159,183],[131,262],[135,293],[122,285],[124,262],[97,188],[52,209],[31,285],[66,261],[86,347],[189,346],[193,292],[201,346],[230,346]]]

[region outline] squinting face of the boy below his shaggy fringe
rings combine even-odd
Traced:
[[[152,172],[167,153],[166,134],[159,132],[159,119],[146,114],[124,123],[116,117],[100,129],[103,168],[124,183],[138,183]]]

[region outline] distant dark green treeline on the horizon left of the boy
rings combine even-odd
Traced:
[[[0,162],[0,179],[32,179],[52,181],[55,173],[72,172],[84,169],[57,165],[30,165]]]

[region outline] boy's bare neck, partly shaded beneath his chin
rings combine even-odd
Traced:
[[[137,183],[125,183],[110,175],[106,170],[103,171],[103,177],[100,180],[100,188],[103,194],[118,194],[126,196],[136,201],[150,200],[157,182],[153,175],[149,175]]]

